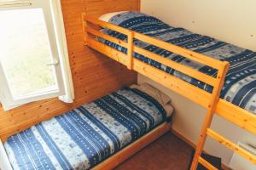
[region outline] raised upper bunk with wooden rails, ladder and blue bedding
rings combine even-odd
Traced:
[[[255,82],[256,79],[253,75],[255,74],[255,67],[253,69],[255,62],[250,69],[241,72],[241,75],[233,74],[233,77],[230,77],[228,73],[227,77],[230,79],[226,77],[229,66],[231,71],[239,66],[248,66],[244,64],[253,62],[255,53],[229,45],[226,42],[219,42],[211,37],[193,34],[183,28],[168,26],[152,16],[139,12],[115,14],[109,21],[99,20],[86,14],[82,14],[82,18],[85,46],[107,55],[109,58],[126,65],[129,69],[159,82],[166,88],[207,109],[191,169],[196,169],[198,162],[209,169],[216,169],[201,158],[207,136],[216,139],[230,150],[234,150],[247,160],[256,163],[255,156],[210,128],[212,116],[216,113],[237,126],[251,133],[256,133],[256,116],[253,114],[253,112],[256,113],[255,106],[245,107],[245,104],[231,103],[230,99],[224,99],[223,94],[225,88],[229,87],[230,81],[239,79],[241,75],[247,74]],[[177,34],[171,33],[172,36],[174,35],[172,38],[166,34],[166,32],[175,31],[182,32],[181,35],[185,38],[181,41]],[[183,41],[187,41],[189,38],[192,40],[189,45],[183,44]],[[197,50],[193,46],[193,39],[203,39],[197,41],[201,47],[216,43],[219,47],[224,48],[220,48],[221,50],[215,51],[215,53],[207,54],[204,53],[206,52],[204,49]],[[229,50],[230,56],[237,54],[235,58],[221,55],[229,52]],[[241,51],[245,54],[239,55]],[[248,82],[247,79],[245,81]],[[254,88],[249,90],[249,93],[253,92]],[[231,97],[234,97],[234,93]]]

